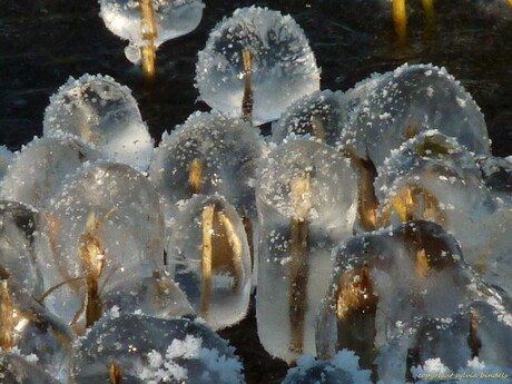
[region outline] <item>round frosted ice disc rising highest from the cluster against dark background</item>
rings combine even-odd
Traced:
[[[242,114],[245,49],[252,56],[256,125],[278,119],[293,101],[319,89],[321,71],[295,20],[266,8],[242,8],[211,30],[198,53],[196,87],[211,108]]]

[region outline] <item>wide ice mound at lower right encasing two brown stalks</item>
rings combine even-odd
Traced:
[[[498,293],[474,275],[453,237],[434,223],[407,221],[353,237],[335,256],[329,294],[317,324],[317,348],[323,358],[348,348],[361,357],[363,367],[372,368],[383,353],[380,348],[386,351],[388,339],[404,328],[415,329],[417,319],[451,318],[462,306],[479,301],[502,311]],[[460,342],[466,338],[467,334]],[[430,342],[429,337],[419,339]],[[388,349],[397,353],[400,348]],[[392,356],[383,366],[404,371],[405,357]]]

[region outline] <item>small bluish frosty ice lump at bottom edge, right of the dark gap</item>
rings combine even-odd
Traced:
[[[332,360],[315,361],[305,355],[297,360],[283,384],[371,384],[371,371],[358,366],[358,357],[351,351],[338,352]]]

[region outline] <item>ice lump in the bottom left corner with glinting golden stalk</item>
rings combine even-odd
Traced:
[[[72,331],[41,306],[12,276],[2,272],[1,277],[1,348],[37,360],[38,366],[52,377],[66,381],[70,374]]]

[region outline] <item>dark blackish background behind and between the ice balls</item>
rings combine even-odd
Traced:
[[[50,95],[69,76],[86,72],[110,75],[131,88],[159,140],[164,130],[171,130],[193,111],[208,109],[196,102],[196,53],[223,16],[254,3],[291,13],[304,28],[322,67],[324,89],[346,90],[372,72],[388,71],[404,62],[446,67],[482,108],[493,152],[508,156],[512,154],[512,10],[496,20],[471,7],[459,7],[471,1],[476,0],[437,1],[443,8],[434,28],[426,28],[421,10],[416,10],[407,49],[401,50],[388,14],[377,16],[375,0],[206,0],[199,28],[158,50],[157,81],[148,92],[139,69],[125,59],[126,42],[105,28],[95,0],[2,0],[0,145],[18,149],[41,135]],[[410,1],[415,3],[420,0]],[[506,18],[509,21],[503,20]],[[254,305],[245,321],[220,334],[237,347],[248,383],[280,383],[286,365],[260,347]]]

